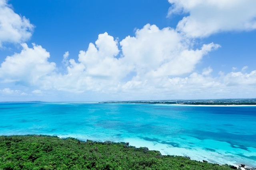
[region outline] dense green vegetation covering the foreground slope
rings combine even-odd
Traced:
[[[82,142],[74,138],[0,136],[0,170],[231,170],[231,166],[162,156],[127,143]]]

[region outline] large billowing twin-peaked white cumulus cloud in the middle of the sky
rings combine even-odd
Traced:
[[[120,41],[120,46],[121,57],[117,57],[118,42],[108,33],[100,34],[87,51],[80,51],[78,63],[69,60],[67,74],[53,78],[54,88],[115,93],[149,83],[152,87],[147,90],[154,89],[163,77],[192,72],[204,55],[219,47],[210,43],[192,49],[191,42],[174,29],[150,24]]]

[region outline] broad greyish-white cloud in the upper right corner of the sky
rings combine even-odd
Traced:
[[[189,37],[256,29],[255,0],[168,0],[168,16],[187,13],[177,30]]]

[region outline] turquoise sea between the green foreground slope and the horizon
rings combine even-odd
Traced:
[[[130,142],[162,154],[256,167],[256,106],[0,103],[0,135]]]

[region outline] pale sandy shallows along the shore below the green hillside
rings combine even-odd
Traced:
[[[123,140],[113,140],[113,139],[106,139],[106,140],[98,140],[98,139],[93,139],[90,136],[80,136],[80,135],[73,135],[71,137],[74,137],[78,140],[81,141],[86,141],[87,139],[92,140],[92,141],[99,141],[99,142],[104,142],[106,140],[112,141],[114,143],[120,143],[120,142],[125,142],[125,143],[130,143],[130,146],[134,146],[137,148],[140,147],[147,147],[149,150],[157,150],[159,151],[162,155],[175,155],[175,156],[185,156],[185,157],[190,157],[191,160],[196,160],[196,161],[201,161],[206,160],[212,164],[229,164],[232,166],[239,167],[240,164],[246,164],[248,168],[256,167],[256,160],[254,160],[254,163],[249,162],[248,160],[244,160],[241,157],[233,157],[234,153],[231,154],[226,154],[228,153],[226,150],[219,150],[219,153],[216,153],[214,145],[212,147],[208,147],[209,150],[204,150],[202,149],[202,146],[195,147],[193,149],[189,149],[184,146],[180,147],[170,147],[168,143],[173,143],[172,141],[161,141],[155,142],[155,141],[146,141],[143,139],[139,138],[124,138]],[[68,138],[68,136],[62,136],[60,137],[61,139]],[[212,141],[208,140],[208,143],[216,143],[217,145],[222,145],[222,147],[225,147],[223,145],[230,145],[229,143],[226,142],[221,142],[221,141]],[[172,145],[172,144],[171,144]],[[211,151],[214,150],[214,151]],[[234,150],[232,152],[235,152]],[[253,150],[251,152],[254,152]],[[233,156],[230,156],[233,155]]]

